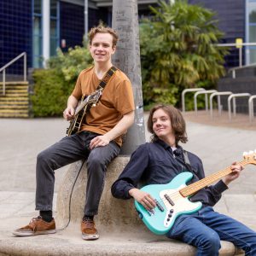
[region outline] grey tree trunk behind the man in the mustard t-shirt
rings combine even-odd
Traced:
[[[136,108],[134,125],[129,129],[121,149],[121,154],[131,154],[145,143],[137,0],[113,0],[112,27],[119,34],[113,64],[131,80]]]

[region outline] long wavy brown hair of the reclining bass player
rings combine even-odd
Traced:
[[[176,144],[178,142],[187,143],[188,137],[186,132],[186,123],[185,123],[185,120],[183,119],[182,113],[177,108],[174,108],[172,105],[165,105],[165,104],[155,105],[154,108],[151,108],[149,112],[148,131],[152,133],[151,142],[154,142],[158,139],[158,137],[154,134],[153,121],[152,121],[153,114],[158,109],[162,109],[170,117],[172,130],[175,136],[175,143]]]

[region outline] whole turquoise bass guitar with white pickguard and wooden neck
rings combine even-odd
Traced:
[[[245,152],[244,160],[237,165],[247,166],[248,164],[256,165],[256,150]],[[186,183],[191,180],[191,172],[182,172],[167,184],[153,184],[143,187],[141,190],[152,195],[156,203],[153,210],[146,210],[143,205],[135,201],[135,207],[139,217],[143,219],[144,224],[156,235],[163,235],[172,229],[176,218],[182,214],[191,214],[201,209],[200,201],[191,202],[189,196],[194,195],[198,190],[207,187],[207,185],[218,179],[230,174],[231,168],[227,167],[222,171],[213,173],[189,186]]]

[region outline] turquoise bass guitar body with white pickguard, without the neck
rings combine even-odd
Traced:
[[[191,202],[188,197],[183,197],[179,193],[179,190],[186,187],[186,182],[192,177],[191,172],[183,172],[174,177],[170,183],[147,185],[141,189],[157,201],[157,207],[151,212],[135,201],[139,217],[154,234],[166,234],[172,229],[178,216],[191,214],[201,209],[201,202]]]

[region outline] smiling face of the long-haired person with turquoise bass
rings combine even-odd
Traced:
[[[152,116],[152,123],[154,134],[161,140],[165,142],[175,140],[171,119],[162,108],[154,111]]]

